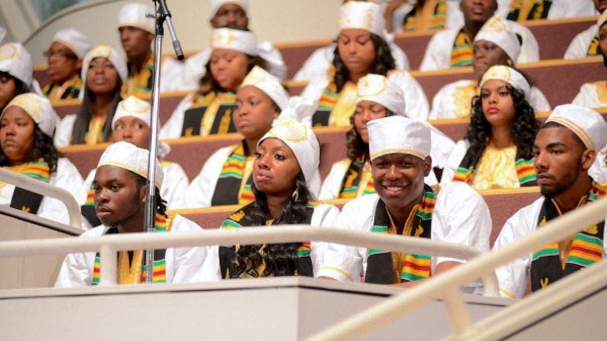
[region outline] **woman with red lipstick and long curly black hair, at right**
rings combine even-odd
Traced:
[[[529,81],[512,67],[492,66],[480,87],[466,138],[456,145],[444,178],[456,168],[453,181],[477,190],[534,186],[531,148],[540,126],[528,102]]]

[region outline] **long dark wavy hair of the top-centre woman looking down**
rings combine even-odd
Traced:
[[[339,39],[339,38],[338,38]],[[335,42],[337,43],[337,40]],[[387,76],[388,71],[396,68],[396,62],[390,52],[390,46],[388,43],[376,35],[371,33],[371,42],[375,46],[375,60],[371,64],[371,71],[369,73],[376,73],[378,75]],[[345,83],[350,79],[350,70],[345,66],[341,56],[339,56],[339,48],[336,46],[333,52],[333,66],[335,67],[335,75],[333,76],[333,83],[335,83],[337,92],[341,92],[344,89]]]

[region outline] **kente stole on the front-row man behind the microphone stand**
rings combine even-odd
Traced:
[[[170,228],[166,226],[166,217],[156,212],[156,232],[168,232]],[[118,228],[112,226],[107,229],[105,234],[117,234]],[[146,251],[143,252],[143,260],[146,259]],[[154,264],[152,265],[152,283],[165,283],[166,282],[166,262],[165,262],[166,249],[154,249]],[[141,278],[140,283],[146,282],[146,265],[145,262],[141,263]],[[101,278],[101,261],[99,252],[95,254],[95,265],[93,266],[93,277],[91,279],[92,285],[98,285]],[[129,283],[118,283],[118,284],[129,284]]]

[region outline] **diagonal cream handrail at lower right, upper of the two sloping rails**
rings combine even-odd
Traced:
[[[504,265],[511,260],[529,254],[548,243],[563,240],[569,235],[581,231],[586,226],[605,220],[607,215],[607,198],[602,198],[584,205],[584,207],[571,211],[557,219],[549,221],[541,229],[520,238],[516,243],[511,243],[503,248],[494,250],[483,257],[470,260],[464,265],[451,269],[443,274],[436,275],[426,283],[421,283],[412,290],[404,291],[402,294],[390,297],[378,305],[345,319],[320,333],[317,333],[308,341],[328,340],[354,340],[373,329],[393,322],[393,320],[412,312],[416,308],[425,305],[435,299],[444,299],[447,303],[447,311],[455,329],[455,339],[466,339],[473,336],[475,325],[464,311],[452,314],[453,307],[461,307],[463,295],[454,292],[464,283],[470,282],[480,276],[495,273],[498,266]]]

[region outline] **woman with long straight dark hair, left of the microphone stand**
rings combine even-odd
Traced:
[[[55,146],[109,141],[112,118],[122,100],[120,89],[127,75],[126,62],[114,47],[102,44],[90,49],[82,68],[82,105],[78,113],[65,116],[59,124]]]

